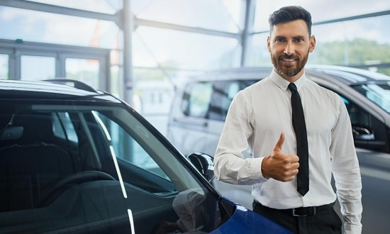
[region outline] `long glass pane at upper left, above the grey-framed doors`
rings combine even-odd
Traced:
[[[119,33],[111,21],[4,6],[0,6],[0,22],[1,39],[38,43],[114,48]]]

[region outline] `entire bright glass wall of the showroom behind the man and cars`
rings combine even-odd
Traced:
[[[139,97],[148,96],[142,94],[143,90],[140,89],[144,88],[141,87],[153,87],[161,83],[170,86],[169,94],[172,94],[174,85],[183,77],[209,69],[240,67],[242,64],[241,54],[245,50],[242,48],[243,38],[240,33],[245,31],[245,0],[129,1],[135,18],[130,65],[123,64],[123,30],[120,21],[66,16],[59,11],[48,13],[0,6],[0,39],[109,49],[112,51],[111,91],[118,96],[123,95],[123,89],[127,86]],[[253,1],[255,16],[247,18],[253,21],[253,28],[247,28],[248,34],[252,36],[247,44],[248,59],[244,65],[271,65],[266,46],[269,27],[267,19],[272,11],[290,5],[291,1]],[[28,2],[104,13],[106,16],[116,16],[123,8],[123,0]],[[297,0],[294,4],[308,9],[313,16],[313,34],[316,35],[317,46],[309,57],[309,63],[373,65],[364,68],[390,74],[389,69],[376,67],[378,64],[390,64],[390,31],[387,30],[390,1]],[[384,12],[384,15],[323,24],[324,21],[377,12]],[[251,26],[251,23],[248,25]],[[0,57],[0,75],[7,77],[8,65],[3,60],[4,57]],[[87,65],[89,67],[91,63]],[[124,66],[133,66],[133,84],[123,83]],[[52,72],[48,72],[50,77]],[[140,99],[139,103],[146,101]]]

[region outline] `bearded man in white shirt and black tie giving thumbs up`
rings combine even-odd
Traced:
[[[361,233],[362,182],[347,109],[338,94],[305,75],[315,45],[311,14],[305,9],[287,6],[269,16],[267,48],[274,69],[233,99],[214,172],[224,182],[252,184],[255,212],[294,233],[316,234],[342,232],[333,210],[333,173],[345,233]],[[303,106],[303,137],[291,117],[297,115],[291,114],[296,89]],[[243,156],[248,149],[252,158]],[[308,182],[297,182],[301,174]],[[298,185],[306,189],[298,191]]]

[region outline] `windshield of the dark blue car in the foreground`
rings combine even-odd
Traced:
[[[221,223],[216,194],[134,111],[0,108],[1,233],[210,232]]]

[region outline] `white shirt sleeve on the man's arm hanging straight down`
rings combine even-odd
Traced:
[[[362,179],[347,108],[338,100],[338,121],[332,130],[330,153],[345,233],[362,233]]]

